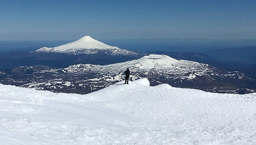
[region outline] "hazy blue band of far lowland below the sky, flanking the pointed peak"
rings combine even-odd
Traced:
[[[75,39],[77,40],[77,39]],[[0,41],[0,50],[34,51],[56,47],[75,40]],[[256,39],[98,39],[107,45],[131,51],[204,52],[210,49],[255,47]]]

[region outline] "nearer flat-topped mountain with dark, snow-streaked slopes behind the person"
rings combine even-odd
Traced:
[[[54,92],[87,94],[124,80],[124,71],[129,68],[130,80],[148,78],[151,86],[166,83],[173,87],[234,94],[252,93],[256,89],[256,81],[238,71],[229,72],[207,64],[176,60],[166,55],[149,55],[104,66],[78,64],[64,69],[34,67],[13,69],[16,74],[28,71],[31,74],[23,74],[25,77],[11,76],[1,83]]]

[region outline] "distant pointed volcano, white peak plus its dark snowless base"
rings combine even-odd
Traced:
[[[110,46],[90,36],[84,36],[61,46],[42,47],[33,52],[1,55],[0,69],[34,65],[55,68],[66,68],[76,64],[109,65],[139,59],[145,55],[144,53]]]

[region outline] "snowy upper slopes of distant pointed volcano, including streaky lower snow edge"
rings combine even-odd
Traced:
[[[103,42],[93,39],[90,36],[84,36],[74,42],[67,43],[67,44],[53,47],[53,48],[43,47],[36,50],[35,52],[57,52],[57,53],[67,53],[67,54],[98,54],[101,51],[107,54],[113,54],[113,55],[138,54],[137,52],[132,52],[125,49],[120,49],[115,46],[107,45]]]

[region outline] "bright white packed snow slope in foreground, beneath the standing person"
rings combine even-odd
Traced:
[[[87,95],[0,85],[1,145],[256,144],[256,93],[121,83]]]

